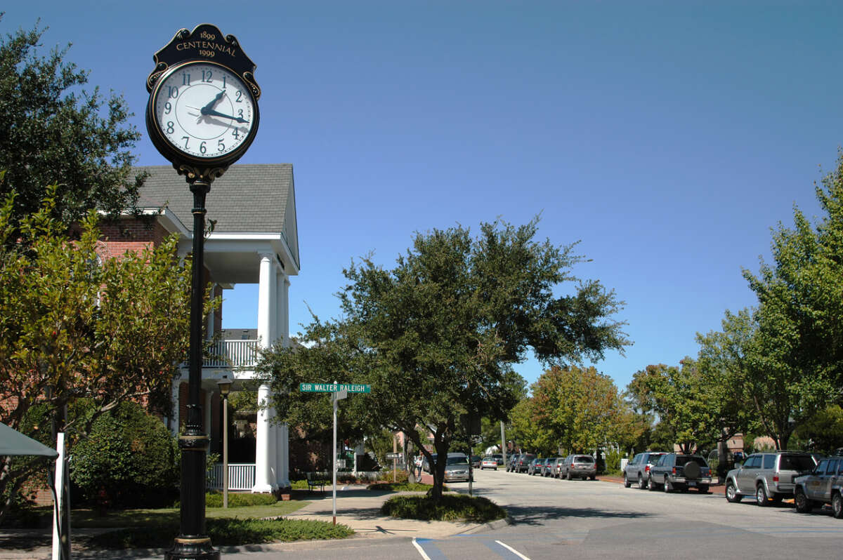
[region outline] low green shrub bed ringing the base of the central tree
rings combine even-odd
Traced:
[[[405,519],[474,523],[486,523],[507,516],[507,511],[490,499],[464,494],[443,494],[439,500],[427,496],[394,496],[384,502],[380,512]]]

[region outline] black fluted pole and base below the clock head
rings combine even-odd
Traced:
[[[191,179],[188,179],[190,182]],[[216,560],[219,551],[211,546],[205,528],[205,469],[209,438],[202,429],[199,390],[202,381],[202,303],[205,296],[205,195],[211,182],[196,178],[193,193],[193,269],[191,271],[191,349],[188,378],[188,404],[185,433],[179,437],[181,450],[181,525],[166,560],[208,558]]]

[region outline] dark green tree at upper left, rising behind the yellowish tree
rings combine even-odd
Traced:
[[[2,19],[3,13],[0,13]],[[131,209],[142,177],[130,179],[140,135],[126,102],[81,89],[88,72],[65,61],[67,48],[40,56],[45,29],[0,37],[0,200],[16,193],[13,216],[39,211],[58,184],[53,216],[70,225],[87,211]]]

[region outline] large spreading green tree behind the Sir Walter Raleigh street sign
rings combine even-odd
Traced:
[[[528,349],[548,363],[599,359],[628,344],[620,307],[597,281],[577,285],[572,296],[554,296],[576,280],[569,269],[582,258],[573,246],[534,241],[538,220],[522,227],[481,225],[472,238],[463,227],[416,234],[413,246],[387,270],[369,258],[344,271],[342,318],[314,322],[304,341],[312,348],[276,349],[260,370],[276,387],[299,381],[364,382],[372,394],[343,404],[361,429],[404,431],[423,448],[416,426],[432,434],[432,452],[447,456],[466,439],[460,419],[475,414],[506,419],[518,394],[511,366]],[[300,418],[292,401],[279,398],[282,418]],[[322,405],[308,413],[325,410]],[[445,461],[431,461],[432,497],[442,494]]]

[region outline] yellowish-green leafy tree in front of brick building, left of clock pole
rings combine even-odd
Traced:
[[[178,263],[175,237],[100,259],[96,213],[71,241],[51,217],[56,189],[48,193],[17,224],[12,197],[0,208],[0,422],[18,428],[37,405],[72,445],[122,402],[169,412],[170,381],[188,347],[191,269]],[[19,232],[30,243],[15,243]],[[91,413],[63,413],[83,398]],[[13,496],[31,471],[4,469],[0,493]]]

